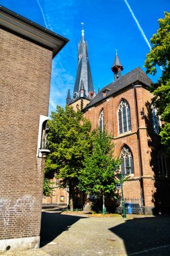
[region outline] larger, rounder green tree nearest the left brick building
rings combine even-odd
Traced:
[[[81,111],[75,112],[70,106],[56,106],[48,127],[50,154],[46,159],[45,178],[52,179],[56,175],[57,179],[61,179],[61,187],[69,187],[69,205],[73,210],[73,193],[79,171],[85,152],[88,154],[91,147],[91,123],[83,117]]]

